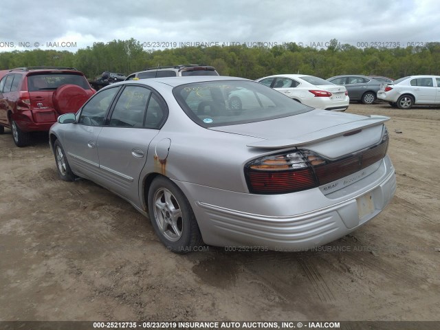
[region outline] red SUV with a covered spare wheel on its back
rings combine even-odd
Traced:
[[[76,112],[96,93],[73,67],[19,67],[0,71],[0,134],[12,131],[17,146],[30,132],[49,131],[58,115]]]

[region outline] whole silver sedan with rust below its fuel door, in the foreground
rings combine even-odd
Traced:
[[[231,109],[237,91],[252,106]],[[388,119],[313,109],[242,78],[127,80],[61,115],[50,145],[61,179],[126,199],[168,250],[296,251],[360,228],[391,201]]]

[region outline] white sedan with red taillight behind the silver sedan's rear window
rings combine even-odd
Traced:
[[[341,85],[305,74],[277,74],[257,79],[300,103],[318,109],[345,111],[349,107],[349,94]]]

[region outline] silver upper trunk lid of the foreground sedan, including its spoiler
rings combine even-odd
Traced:
[[[286,118],[219,126],[214,131],[259,137],[251,148],[307,148],[329,158],[359,151],[377,144],[383,123],[390,118],[314,110]]]

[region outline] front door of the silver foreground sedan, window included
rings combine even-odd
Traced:
[[[99,170],[98,135],[119,90],[120,87],[111,87],[98,91],[80,109],[76,122],[66,124],[64,136],[61,137],[74,173],[99,184],[102,184],[102,179]]]

